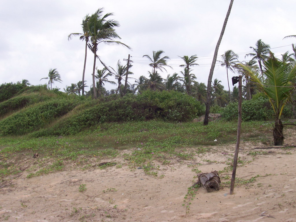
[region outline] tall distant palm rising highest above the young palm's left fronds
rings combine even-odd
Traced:
[[[262,61],[265,61],[268,58],[267,55],[270,53],[270,46],[268,44],[265,44],[261,39],[259,39],[256,42],[255,48],[250,46],[250,49],[252,49],[255,53],[246,54],[245,57],[253,56],[252,59],[258,60],[259,67],[263,76]]]

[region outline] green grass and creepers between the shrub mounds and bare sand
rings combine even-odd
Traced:
[[[271,136],[272,124],[262,121],[243,122],[241,140],[266,140]],[[153,161],[169,164],[170,160],[191,160],[195,154],[209,152],[210,145],[236,142],[237,122],[171,123],[164,121],[142,121],[128,123],[98,124],[75,136],[0,137],[0,177],[19,172],[18,161],[35,161],[38,171],[28,177],[63,170],[67,163],[87,164],[90,158],[97,162],[112,159],[120,150],[133,149],[124,154],[131,168],[141,167],[147,174],[157,176]],[[217,141],[214,141],[217,139]],[[187,148],[194,148],[188,152]],[[33,159],[38,153],[39,158]],[[32,165],[32,163],[30,163]],[[111,164],[114,165],[114,164]],[[146,168],[144,168],[146,167]],[[86,168],[84,168],[86,169]]]

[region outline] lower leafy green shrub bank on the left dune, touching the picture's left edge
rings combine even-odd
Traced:
[[[76,105],[74,100],[55,99],[27,107],[0,121],[0,135],[22,135],[36,131],[65,115]]]

